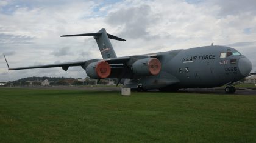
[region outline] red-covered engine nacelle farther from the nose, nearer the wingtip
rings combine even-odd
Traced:
[[[85,68],[85,71],[90,78],[101,79],[110,75],[111,67],[105,61],[92,62]]]

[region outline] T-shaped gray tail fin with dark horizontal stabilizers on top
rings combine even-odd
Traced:
[[[116,58],[116,53],[115,53],[109,39],[115,39],[118,41],[126,41],[125,39],[108,34],[104,28],[99,30],[98,33],[86,33],[86,34],[79,34],[79,35],[63,35],[62,37],[71,37],[71,36],[93,36],[93,38],[96,40],[96,42],[98,44],[99,51],[101,52],[103,59]]]

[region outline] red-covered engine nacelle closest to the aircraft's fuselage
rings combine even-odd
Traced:
[[[139,59],[132,64],[135,75],[157,75],[161,71],[161,62],[157,58]]]

